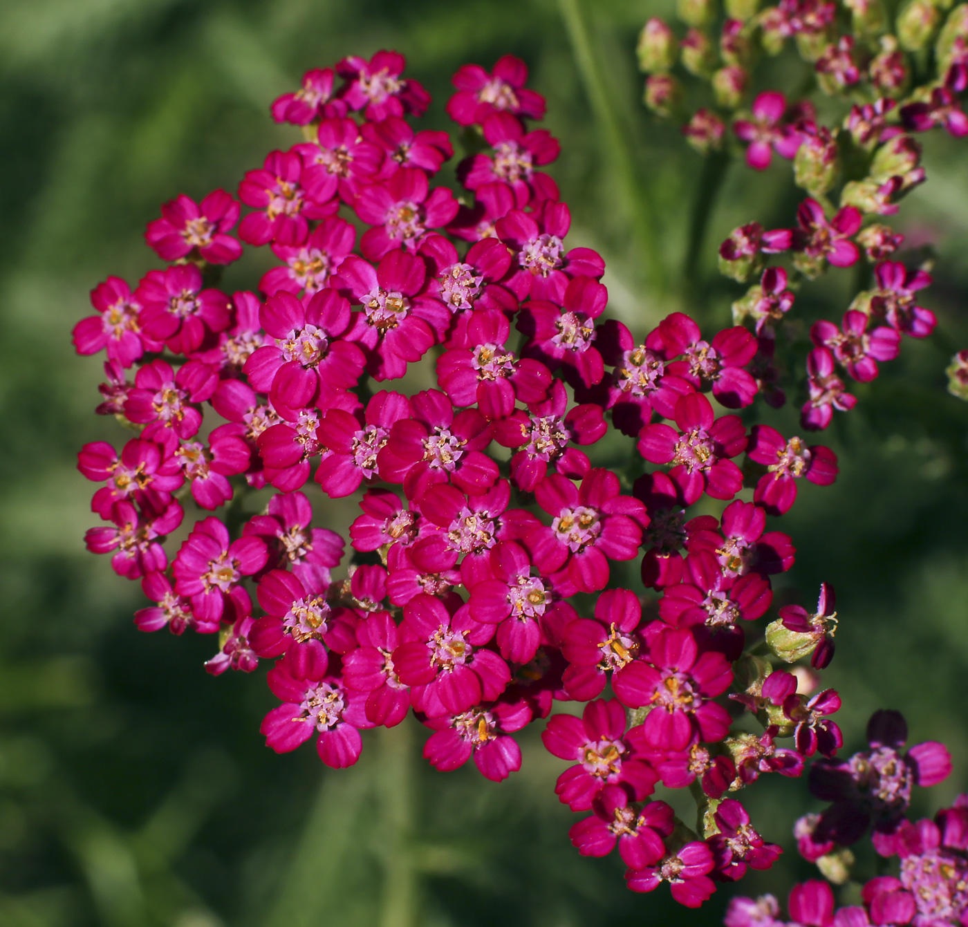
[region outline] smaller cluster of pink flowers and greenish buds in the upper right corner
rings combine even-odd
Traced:
[[[897,15],[892,32],[879,4],[844,6],[849,24],[831,0],[782,0],[759,12],[757,4],[727,4],[717,43],[714,5],[697,0],[681,5],[688,27],[683,38],[652,18],[638,49],[649,73],[646,103],[660,116],[673,115],[681,102],[679,78],[672,73],[677,62],[710,82],[714,107],[700,108],[683,126],[697,150],[718,158],[737,150],[755,170],[767,169],[775,153],[793,162],[794,179],[808,194],[795,227],[765,231],[759,223],[745,224],[719,250],[724,274],[741,283],[759,278],[733,310],[736,321],[752,325],[759,338],[757,374],[774,404],[785,400],[772,386],[775,360],[788,353],[784,343],[798,337],[784,324],[796,290],[830,266],[870,265],[872,285],[842,318],[817,319],[809,328],[802,405],[807,430],[827,428],[834,410],[856,405],[848,378],[874,379],[879,364],[897,356],[903,336],[924,338],[933,331],[934,314],[919,305],[919,291],[931,277],[923,267],[895,259],[904,236],[878,217],[895,214],[899,199],[925,179],[915,134],[943,128],[968,135],[968,116],[959,107],[968,86],[965,8],[956,7],[942,24],[941,5],[913,2]],[[810,100],[791,101],[776,90],[759,93],[743,108],[758,55],[777,54],[790,37],[820,89],[842,101],[839,121],[824,125]],[[935,75],[919,74],[916,82],[913,57],[932,43]],[[792,267],[765,266],[768,255],[782,253],[791,255]]]

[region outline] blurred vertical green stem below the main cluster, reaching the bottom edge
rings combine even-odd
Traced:
[[[383,811],[383,903],[380,927],[416,927],[419,875],[412,847],[414,812],[413,723],[408,716],[383,728],[380,777]]]

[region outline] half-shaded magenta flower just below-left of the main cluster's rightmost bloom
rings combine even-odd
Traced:
[[[737,499],[723,510],[721,523],[711,515],[686,523],[686,546],[690,554],[713,554],[724,576],[783,573],[793,566],[796,548],[789,534],[767,531],[766,526],[763,508]]]

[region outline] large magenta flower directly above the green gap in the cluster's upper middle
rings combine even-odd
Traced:
[[[435,341],[442,338],[449,314],[427,291],[427,266],[403,251],[390,252],[373,267],[350,255],[340,267],[341,286],[363,306],[347,338],[362,344],[367,370],[378,380],[407,372]]]

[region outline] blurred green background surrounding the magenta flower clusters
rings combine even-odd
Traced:
[[[562,764],[536,733],[522,737],[524,770],[500,785],[472,767],[426,769],[408,726],[367,733],[350,771],[324,771],[311,749],[267,751],[257,729],[274,700],[261,671],[211,678],[211,638],[136,632],[136,583],[83,550],[91,486],[75,469],[84,441],[120,439],[93,415],[100,363],[70,344],[88,290],[158,266],[141,232],[159,203],[233,190],[295,140],[269,120],[270,101],[347,54],[405,52],[434,94],[433,128],[446,125],[462,63],[525,58],[562,142],[552,170],[571,241],[605,255],[613,312],[639,333],[679,308],[726,324],[740,287],[716,276],[716,244],[752,218],[790,224],[797,192],[786,164],[730,165],[683,274],[703,163],[639,105],[633,55],[647,16],[668,12],[652,0],[0,3],[3,927],[719,922],[728,890],[686,912],[664,889],[627,892],[618,859],[572,850],[573,816],[553,792]],[[769,62],[759,79],[795,86],[802,67]],[[913,739],[950,744],[958,771],[920,796],[926,811],[964,788],[968,761],[968,405],[943,374],[968,345],[968,159],[932,136],[925,164],[930,179],[898,225],[938,245],[927,305],[942,333],[906,343],[858,389],[859,411],[838,416],[840,479],[802,490],[784,519],[800,554],[778,585],[807,605],[821,580],[837,590],[828,681],[845,698],[848,748],[877,706],[902,708]],[[228,284],[256,280],[250,265]],[[850,284],[832,274],[798,313],[839,317]],[[796,429],[795,411],[769,420]],[[742,797],[787,846],[812,807],[796,780]],[[788,852],[741,890],[784,892],[808,875]]]

